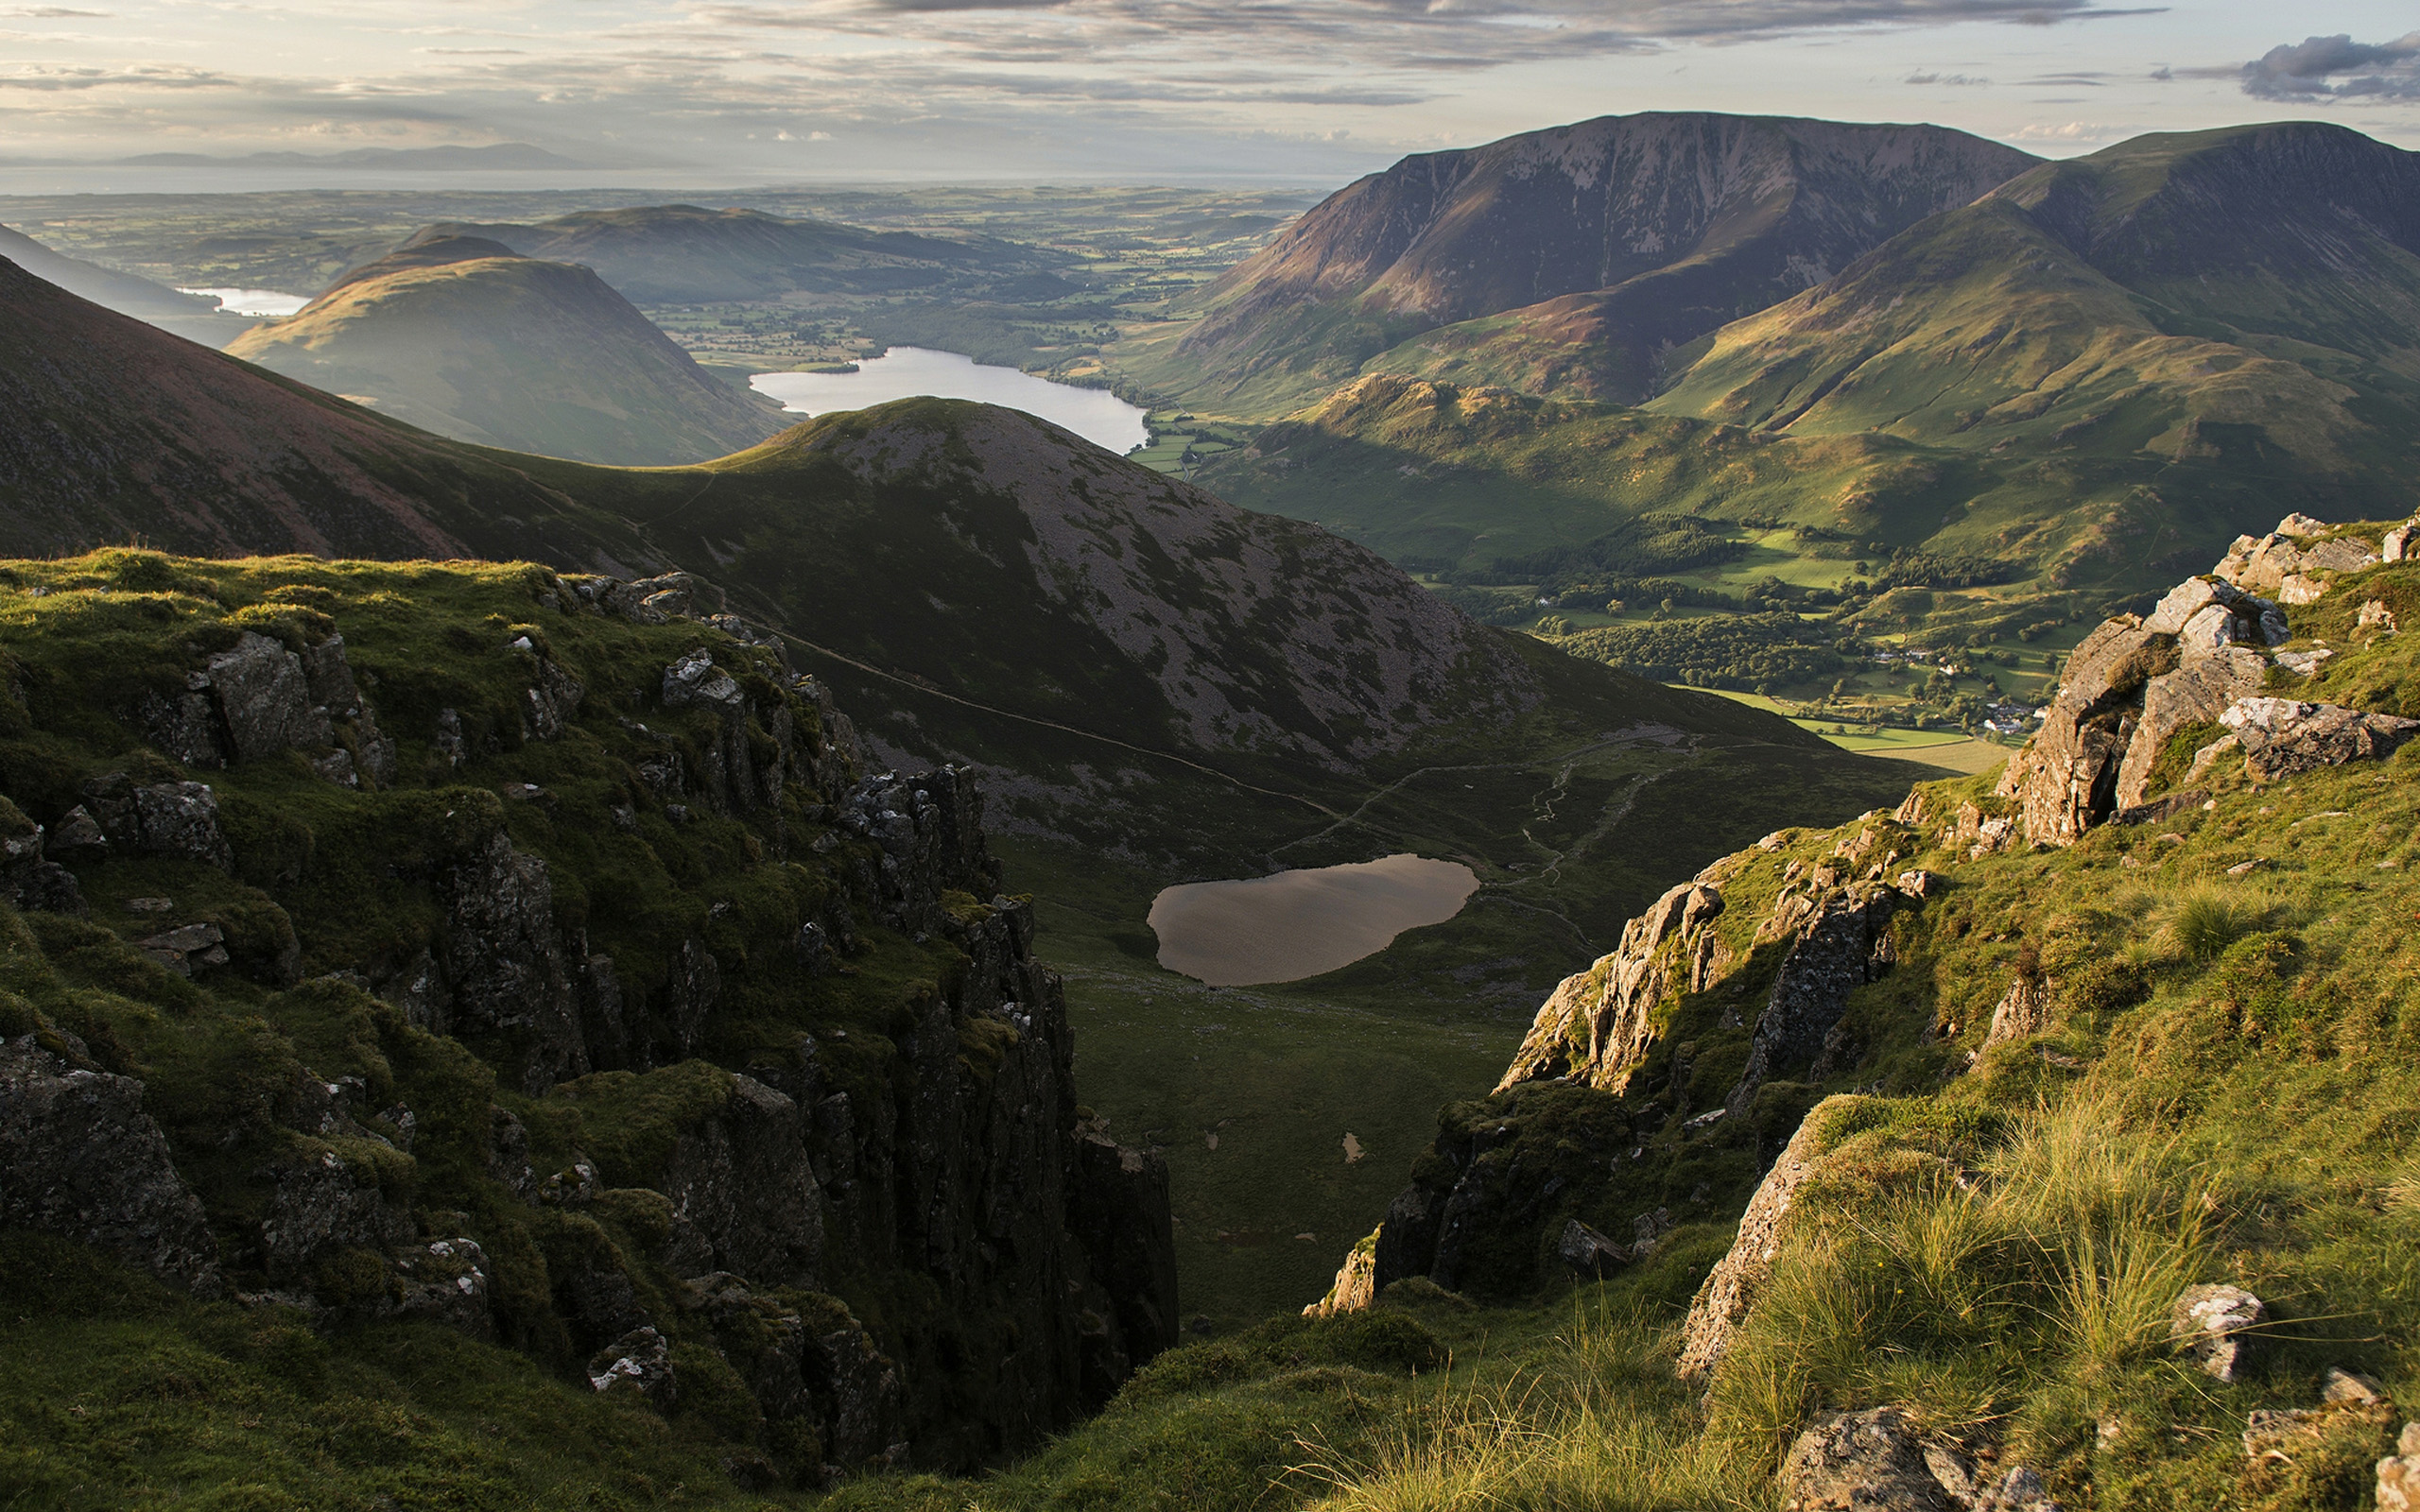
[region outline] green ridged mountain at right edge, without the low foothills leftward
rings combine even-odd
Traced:
[[[1650,409],[1793,435],[2299,474],[2398,513],[2420,155],[2343,126],[2045,165],[1718,331]]]

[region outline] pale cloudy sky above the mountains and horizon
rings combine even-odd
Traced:
[[[2415,19],[2408,0],[0,0],[0,157],[535,143],[590,181],[1333,179],[1641,109],[1938,121],[2050,155],[2321,116],[2420,148]]]

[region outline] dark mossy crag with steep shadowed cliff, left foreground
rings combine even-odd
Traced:
[[[970,777],[862,774],[709,585],[7,573],[0,1222],[714,1401],[757,1481],[995,1461],[1174,1340]]]

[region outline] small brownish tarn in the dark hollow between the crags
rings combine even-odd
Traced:
[[[1377,956],[1406,929],[1452,919],[1476,890],[1469,866],[1406,852],[1164,888],[1152,900],[1152,931],[1159,965],[1198,982],[1300,982]]]

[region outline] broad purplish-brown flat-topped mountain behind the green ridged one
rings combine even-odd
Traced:
[[[1638,399],[1665,348],[2038,160],[1938,126],[1602,116],[1360,179],[1200,298],[1140,380],[1278,414],[1362,370]],[[1496,319],[1491,319],[1496,317]]]

